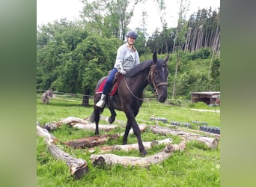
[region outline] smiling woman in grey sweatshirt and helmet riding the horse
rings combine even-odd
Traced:
[[[127,43],[124,43],[118,48],[117,57],[115,60],[115,65],[113,70],[109,73],[106,84],[103,88],[103,93],[100,100],[97,102],[96,106],[103,108],[105,104],[106,95],[112,88],[112,82],[115,78],[115,73],[120,72],[123,76],[127,74],[132,67],[139,64],[138,52],[134,47],[135,40],[138,34],[135,31],[128,31],[127,33]]]

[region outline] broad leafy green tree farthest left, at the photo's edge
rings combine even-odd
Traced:
[[[73,92],[76,88],[77,67],[73,51],[88,36],[88,32],[76,22],[60,22],[43,25],[37,30],[37,88]],[[64,76],[64,75],[67,75]],[[69,78],[70,76],[70,78]]]

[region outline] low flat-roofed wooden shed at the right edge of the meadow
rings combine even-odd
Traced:
[[[202,101],[205,102],[207,105],[216,105],[216,101],[219,100],[220,91],[192,92],[191,95],[192,102]]]

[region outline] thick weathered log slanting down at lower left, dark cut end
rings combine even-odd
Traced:
[[[51,135],[46,129],[43,129],[39,123],[37,123],[37,135],[45,139],[49,152],[52,153],[52,156],[66,162],[71,175],[73,175],[76,180],[81,179],[84,174],[88,173],[87,162],[82,159],[73,158],[68,153],[64,152],[64,150],[59,149],[54,144],[58,139]]]

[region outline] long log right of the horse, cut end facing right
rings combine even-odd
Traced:
[[[200,141],[201,143],[206,144],[207,147],[210,147],[210,149],[216,149],[219,145],[218,139],[206,137],[204,135],[195,134],[193,132],[186,132],[186,131],[182,131],[180,129],[170,129],[170,128],[166,128],[163,126],[150,126],[150,129],[155,134],[180,135],[180,136],[186,137],[188,139],[188,141],[191,141],[191,140]]]

